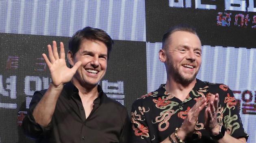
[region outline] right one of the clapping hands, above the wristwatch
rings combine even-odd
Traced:
[[[217,108],[219,105],[219,94],[211,95],[208,101],[208,105],[205,109],[205,128],[211,135],[218,134],[220,125],[217,122]]]

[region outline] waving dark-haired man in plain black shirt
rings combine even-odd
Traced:
[[[65,62],[63,43],[48,45],[52,83],[35,92],[28,116],[26,135],[38,143],[128,143],[126,108],[110,99],[98,82],[106,73],[113,40],[101,29],[86,27],[69,40]]]

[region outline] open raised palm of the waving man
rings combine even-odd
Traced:
[[[76,62],[72,68],[67,67],[63,42],[60,42],[60,56],[56,41],[52,41],[52,46],[49,44],[47,47],[50,61],[46,54],[42,54],[42,56],[50,69],[52,84],[59,87],[72,79],[81,62]]]

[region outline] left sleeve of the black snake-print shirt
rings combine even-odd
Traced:
[[[145,121],[145,116],[143,114],[143,111],[141,111],[142,106],[138,105],[137,103],[138,102],[135,101],[135,103],[132,104],[131,111],[132,143],[152,143],[150,139],[148,125]]]

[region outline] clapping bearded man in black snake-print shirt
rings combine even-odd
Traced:
[[[132,105],[133,143],[245,143],[232,91],[196,79],[202,62],[195,30],[179,25],[163,36],[159,59],[167,82]]]

